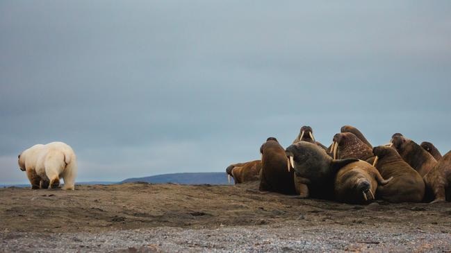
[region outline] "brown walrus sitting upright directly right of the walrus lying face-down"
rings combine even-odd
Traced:
[[[425,196],[425,182],[394,148],[377,146],[372,149],[378,157],[375,164],[382,177],[393,180],[377,188],[377,198],[388,202],[421,202]]]

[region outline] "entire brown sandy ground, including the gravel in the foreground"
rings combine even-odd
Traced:
[[[351,205],[237,186],[0,189],[1,252],[451,252],[451,202]]]

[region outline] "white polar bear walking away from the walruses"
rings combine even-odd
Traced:
[[[47,188],[47,183],[49,188],[56,188],[60,184],[61,177],[64,180],[63,189],[74,190],[77,173],[76,155],[66,143],[56,141],[28,148],[19,155],[19,166],[22,171],[27,172],[27,176],[31,175],[28,176],[28,180],[32,189],[36,189],[38,180],[40,188]]]

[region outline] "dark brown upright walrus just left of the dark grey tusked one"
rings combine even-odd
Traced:
[[[288,195],[296,193],[293,171],[287,171],[285,150],[274,137],[260,147],[260,191],[274,191]]]

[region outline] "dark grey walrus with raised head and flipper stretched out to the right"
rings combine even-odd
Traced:
[[[285,150],[288,167],[294,168],[303,184],[309,187],[310,198],[334,199],[337,171],[358,159],[334,160],[318,145],[306,141],[292,144]]]

